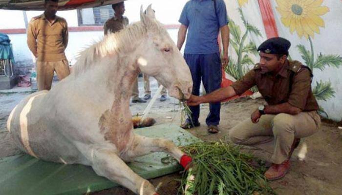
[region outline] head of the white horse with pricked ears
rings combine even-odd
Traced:
[[[155,19],[149,6],[146,13],[140,10],[141,23],[146,27],[146,39],[139,44],[137,64],[141,72],[156,78],[174,98],[185,98],[192,92],[192,77],[182,54],[172,41],[164,26]]]

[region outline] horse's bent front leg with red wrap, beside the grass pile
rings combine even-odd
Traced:
[[[132,144],[130,144],[126,153],[121,157],[124,160],[130,161],[135,157],[144,156],[152,152],[166,152],[174,157],[184,168],[187,168],[192,161],[191,157],[179,150],[171,140],[144,137],[136,134],[134,134]]]

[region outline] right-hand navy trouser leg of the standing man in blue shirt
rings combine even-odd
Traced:
[[[204,88],[207,94],[221,87],[222,69],[219,53],[203,54],[200,60],[201,76]],[[221,102],[210,103],[210,112],[207,116],[206,123],[210,125],[218,125],[220,122]]]

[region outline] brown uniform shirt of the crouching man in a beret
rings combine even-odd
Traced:
[[[241,95],[256,85],[269,105],[288,102],[302,111],[314,111],[318,110],[319,106],[311,91],[310,75],[311,71],[299,61],[287,60],[276,76],[270,73],[262,74],[260,65],[256,64],[231,86],[236,94]]]

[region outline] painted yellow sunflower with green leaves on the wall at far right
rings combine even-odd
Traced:
[[[339,68],[342,65],[342,58],[339,55],[323,55],[320,53],[315,57],[314,53],[313,39],[315,33],[319,35],[320,27],[325,27],[321,16],[329,12],[328,7],[322,6],[323,0],[276,0],[276,2],[278,5],[276,9],[281,15],[280,20],[284,26],[290,29],[291,34],[296,32],[299,38],[304,37],[310,42],[310,51],[302,44],[296,46],[305,64],[312,71],[315,69],[323,71],[326,66]],[[335,97],[335,93],[330,80],[316,81],[313,94],[317,100],[327,101],[329,98]],[[320,111],[325,113],[322,108]]]

